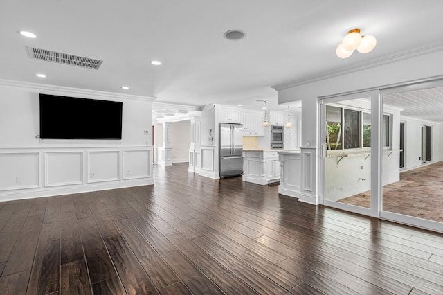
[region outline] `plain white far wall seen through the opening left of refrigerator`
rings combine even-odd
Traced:
[[[191,144],[191,122],[190,120],[172,122],[171,146],[172,163],[188,162],[189,148]]]

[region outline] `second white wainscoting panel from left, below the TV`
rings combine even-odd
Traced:
[[[44,186],[83,184],[83,152],[44,153]]]

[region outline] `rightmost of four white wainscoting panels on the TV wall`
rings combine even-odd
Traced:
[[[151,177],[151,161],[150,150],[124,150],[123,179]]]

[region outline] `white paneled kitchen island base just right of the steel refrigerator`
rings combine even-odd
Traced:
[[[243,150],[243,181],[269,184],[280,181],[277,150]]]

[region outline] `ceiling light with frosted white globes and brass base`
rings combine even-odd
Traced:
[[[375,48],[377,39],[372,35],[361,36],[360,29],[354,28],[347,32],[341,44],[336,48],[336,55],[340,58],[347,58],[356,50],[359,53],[369,53]]]

